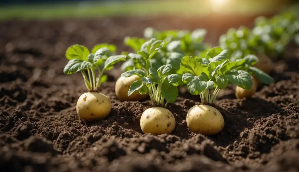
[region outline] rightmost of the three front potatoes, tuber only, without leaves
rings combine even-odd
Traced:
[[[205,135],[217,134],[224,127],[221,113],[209,105],[195,105],[190,108],[186,122],[191,131]]]

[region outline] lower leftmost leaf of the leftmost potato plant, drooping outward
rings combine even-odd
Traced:
[[[90,62],[82,61],[79,59],[72,59],[68,61],[68,63],[65,65],[63,72],[67,75],[79,72],[80,70],[84,70],[88,67],[90,67]]]

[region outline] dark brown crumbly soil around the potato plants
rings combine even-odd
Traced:
[[[276,83],[262,85],[248,99],[222,90],[215,107],[225,126],[215,136],[192,133],[187,111],[199,104],[180,88],[168,109],[176,118],[172,134],[143,134],[141,114],[149,100],[116,98],[118,68],[101,93],[112,102],[102,120],[83,122],[76,102],[86,91],[80,74],[66,76],[65,50],[113,43],[118,52],[125,36],[142,36],[146,27],[208,29],[206,42],[217,44],[229,27],[252,26],[256,16],[214,19],[114,17],[65,21],[0,22],[0,169],[1,171],[299,171],[299,56],[275,62]],[[217,23],[217,24],[215,24]],[[216,25],[216,26],[215,26]],[[294,49],[294,48],[293,48]],[[295,51],[294,51],[295,52]]]

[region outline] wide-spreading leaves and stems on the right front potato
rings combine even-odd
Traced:
[[[274,82],[271,76],[252,67],[257,60],[256,56],[248,55],[243,59],[230,61],[228,50],[213,47],[205,56],[184,56],[180,69],[184,73],[182,79],[187,83],[189,92],[192,95],[200,95],[203,104],[211,104],[215,101],[219,90],[230,84],[250,89],[252,85],[250,73],[266,84]],[[210,96],[209,89],[213,88],[215,90]]]

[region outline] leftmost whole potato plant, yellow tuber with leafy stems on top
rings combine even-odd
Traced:
[[[125,61],[125,55],[112,55],[116,47],[111,44],[98,44],[91,53],[88,48],[75,44],[66,50],[65,56],[69,60],[63,72],[67,75],[80,72],[88,90],[77,101],[77,113],[81,119],[87,121],[104,118],[111,111],[111,102],[107,96],[97,93],[101,83],[105,82],[104,72],[113,68],[113,65]],[[96,77],[98,71],[98,77]]]

